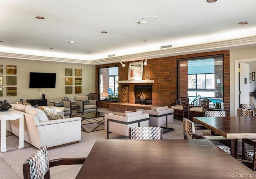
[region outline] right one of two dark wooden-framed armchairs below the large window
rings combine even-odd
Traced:
[[[209,110],[208,98],[198,98],[188,105],[188,118],[190,120],[195,116],[204,116],[205,112]]]

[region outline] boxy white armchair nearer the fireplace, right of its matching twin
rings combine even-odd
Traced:
[[[149,126],[162,127],[164,129],[163,133],[171,132],[174,130],[173,128],[168,128],[168,124],[173,123],[174,109],[168,108],[168,106],[163,106],[151,107],[151,110],[136,110],[141,110],[143,113],[149,114]]]

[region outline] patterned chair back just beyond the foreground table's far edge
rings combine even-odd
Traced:
[[[163,139],[160,127],[130,127],[129,139]]]

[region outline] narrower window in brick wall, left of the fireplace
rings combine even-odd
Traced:
[[[118,67],[99,68],[99,100],[118,100]],[[110,91],[114,94],[111,94]]]

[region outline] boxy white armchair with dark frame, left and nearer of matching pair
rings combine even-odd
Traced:
[[[109,133],[116,133],[128,137],[130,127],[148,127],[149,114],[144,114],[142,111],[125,111],[125,114],[126,116],[105,114],[105,130],[107,132],[107,139],[109,139]]]

